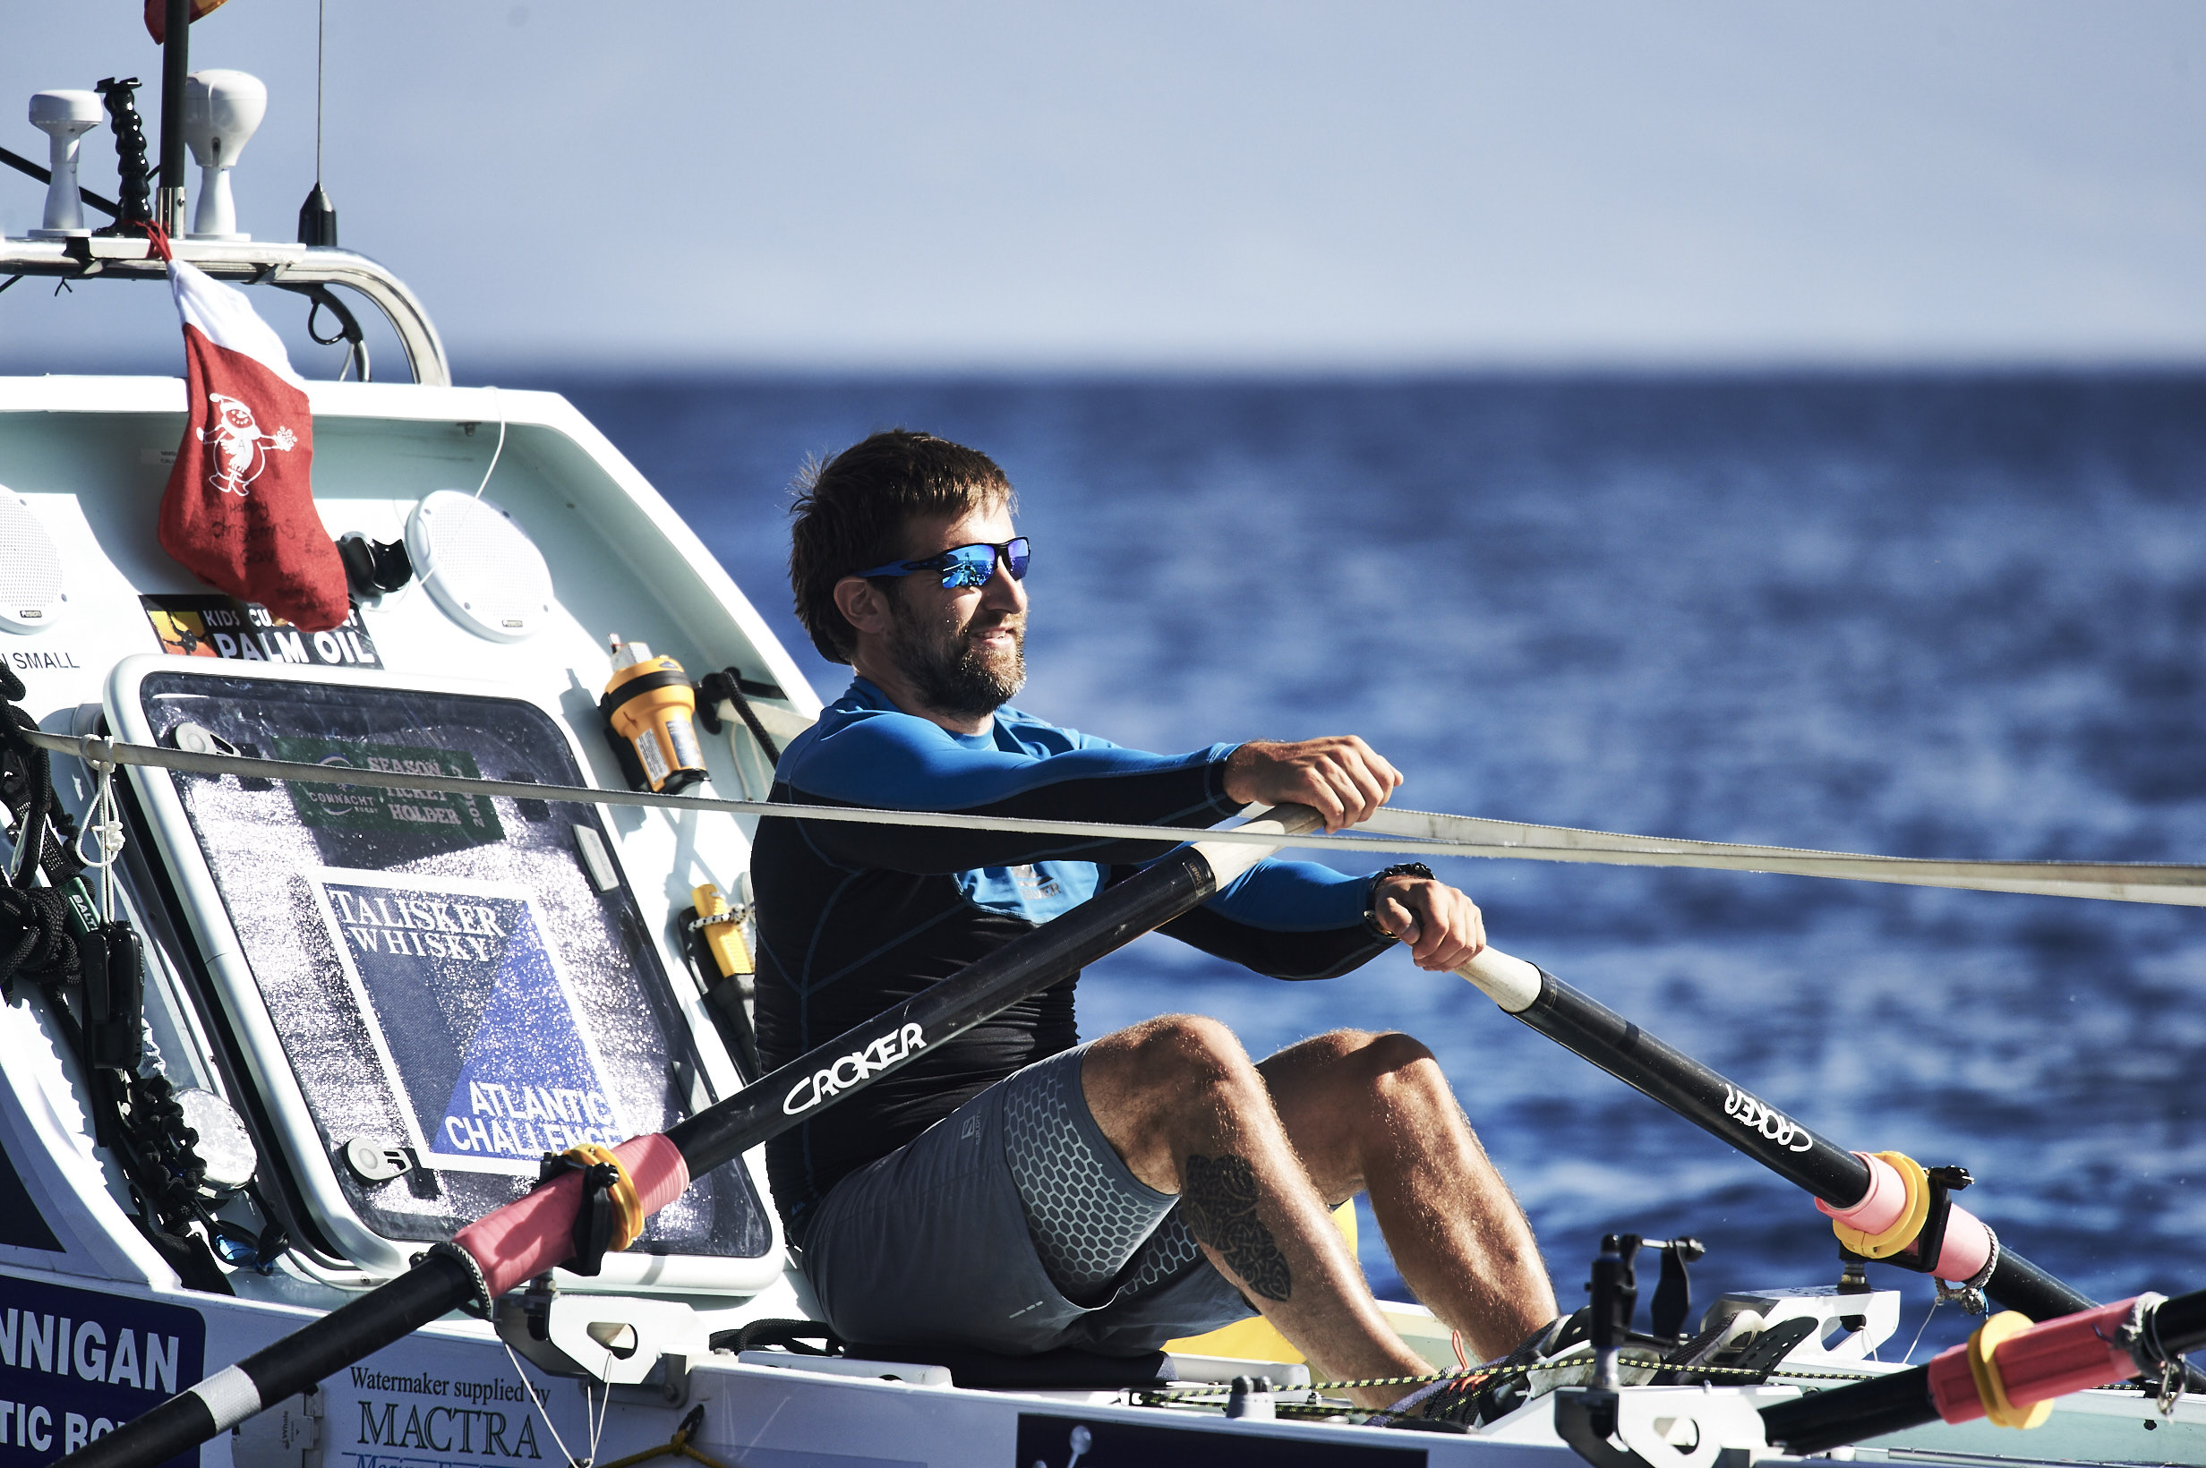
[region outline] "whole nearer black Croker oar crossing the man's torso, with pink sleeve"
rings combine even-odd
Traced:
[[[1235,829],[1275,833],[1284,844],[1286,838],[1317,824],[1321,822],[1315,811],[1284,805]],[[657,1212],[682,1197],[693,1177],[741,1157],[823,1107],[849,1098],[915,1056],[1187,913],[1255,866],[1268,851],[1224,842],[1178,846],[1107,893],[997,948],[887,1014],[790,1060],[717,1107],[660,1135],[622,1142],[613,1155],[627,1168],[642,1212],[646,1217]],[[404,1340],[446,1312],[470,1300],[488,1307],[514,1285],[574,1256],[580,1195],[580,1173],[556,1177],[459,1230],[450,1243],[432,1248],[406,1274],[238,1364],[223,1367],[60,1461],[68,1468],[152,1468]]]

